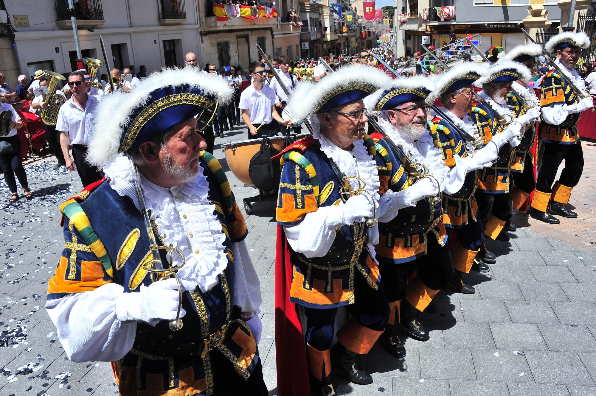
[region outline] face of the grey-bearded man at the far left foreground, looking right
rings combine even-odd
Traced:
[[[166,149],[159,151],[159,162],[172,181],[186,183],[197,177],[201,150],[206,148],[207,143],[197,133],[197,121],[190,118],[175,125],[167,139]]]

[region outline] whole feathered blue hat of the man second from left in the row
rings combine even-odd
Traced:
[[[287,111],[294,121],[311,114],[321,114],[346,103],[364,99],[380,87],[389,85],[391,78],[368,65],[344,66],[322,78],[318,83],[301,81],[288,100]]]

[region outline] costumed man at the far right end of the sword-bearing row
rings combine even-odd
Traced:
[[[582,143],[576,124],[581,112],[594,106],[594,100],[591,96],[578,98],[573,89],[563,87],[568,87],[566,81],[573,81],[576,87],[584,89],[585,82],[573,67],[578,62],[581,50],[589,45],[586,33],[566,32],[551,37],[544,46],[549,54],[556,52],[558,59],[555,59],[555,63],[564,76],[551,70],[542,80],[540,106],[544,121],[538,126],[540,157],[530,216],[550,224],[559,223],[559,219],[550,213],[569,218],[578,216],[565,207],[583,171]],[[563,160],[565,167],[555,183],[558,167]]]

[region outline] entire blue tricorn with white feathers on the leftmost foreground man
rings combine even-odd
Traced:
[[[168,68],[144,78],[131,93],[115,92],[98,103],[86,160],[101,168],[215,102],[226,105],[232,95],[224,78],[192,67]]]

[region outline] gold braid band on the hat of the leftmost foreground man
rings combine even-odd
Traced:
[[[215,105],[215,100],[205,98],[204,96],[197,95],[195,93],[175,93],[173,95],[167,95],[163,98],[157,99],[155,102],[151,103],[143,111],[141,111],[141,113],[132,121],[131,126],[128,127],[128,130],[126,130],[126,133],[122,137],[122,142],[120,142],[120,148],[118,149],[118,152],[123,153],[132,147],[136,136],[138,136],[142,127],[144,127],[145,124],[151,120],[151,118],[156,116],[162,110],[178,105],[196,105],[203,108],[210,108],[211,106]]]

